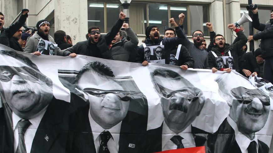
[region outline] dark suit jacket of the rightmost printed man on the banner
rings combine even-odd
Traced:
[[[269,147],[258,140],[258,153],[268,153]],[[208,138],[208,146],[211,153],[242,153],[235,140],[235,132],[227,122],[227,118],[222,122],[218,130]]]

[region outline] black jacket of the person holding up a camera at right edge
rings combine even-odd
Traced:
[[[273,19],[270,19],[270,23],[262,24],[259,21],[259,15],[253,14],[252,16],[253,27],[260,33],[253,35],[254,40],[261,39],[261,50],[263,59],[267,59],[273,56]]]

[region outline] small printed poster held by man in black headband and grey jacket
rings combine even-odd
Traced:
[[[43,55],[54,55],[57,46],[55,43],[40,38],[36,51]]]

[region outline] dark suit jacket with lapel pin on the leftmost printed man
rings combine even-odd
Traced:
[[[0,108],[0,152],[14,153],[11,110],[6,103]],[[38,126],[31,153],[65,153],[68,141],[70,104],[53,97]],[[45,139],[46,135],[48,140]]]

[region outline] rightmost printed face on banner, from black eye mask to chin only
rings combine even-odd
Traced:
[[[235,97],[232,103],[233,116],[239,130],[252,133],[260,131],[269,115],[269,96],[258,89],[244,87],[233,88],[231,94]]]

